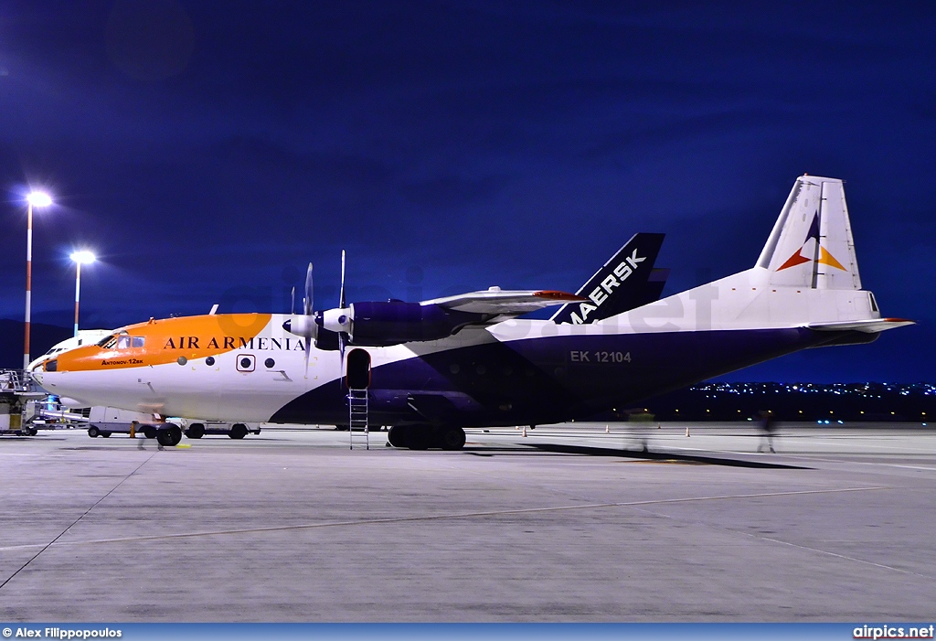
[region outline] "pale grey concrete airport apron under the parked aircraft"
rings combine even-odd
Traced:
[[[933,617],[931,430],[690,428],[3,438],[0,619]]]

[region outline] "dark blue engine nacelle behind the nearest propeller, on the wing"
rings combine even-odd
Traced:
[[[461,313],[402,300],[357,302],[349,312],[351,344],[372,347],[436,341],[451,336],[465,322]]]

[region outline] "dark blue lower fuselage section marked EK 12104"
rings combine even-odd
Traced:
[[[876,334],[806,328],[556,336],[476,344],[373,368],[373,425],[498,427],[586,418],[770,358]],[[346,425],[332,381],[272,422]]]

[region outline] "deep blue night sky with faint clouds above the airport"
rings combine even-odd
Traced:
[[[746,270],[842,178],[913,318],[727,380],[932,381],[936,4],[0,2],[0,317],[81,327],[487,288],[575,291],[637,231],[665,294]]]

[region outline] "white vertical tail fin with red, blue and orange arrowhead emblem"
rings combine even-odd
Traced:
[[[770,270],[770,284],[861,289],[855,240],[840,180],[797,178],[757,259],[757,267]]]

